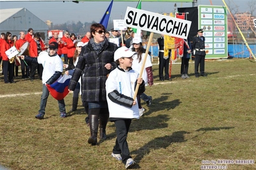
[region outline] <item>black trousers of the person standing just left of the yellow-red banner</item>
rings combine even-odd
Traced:
[[[159,78],[160,80],[169,79],[170,57],[167,59],[164,59],[164,52],[159,52],[158,57],[159,57]]]

